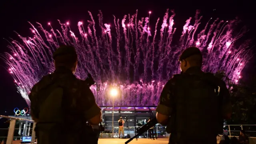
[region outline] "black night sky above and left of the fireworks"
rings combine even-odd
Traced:
[[[49,21],[58,26],[57,19],[77,23],[79,20],[89,19],[88,10],[96,21],[98,10],[102,10],[106,23],[113,22],[112,14],[122,18],[124,14],[133,14],[138,9],[139,17],[145,17],[151,10],[150,21],[154,23],[154,20],[162,18],[166,9],[170,8],[175,10],[175,20],[180,20],[184,25],[185,20],[193,17],[196,9],[200,9],[206,18],[230,20],[238,16],[250,28],[250,36],[255,33],[256,12],[255,7],[252,7],[255,6],[252,0],[1,0],[0,6],[0,54],[8,52],[7,42],[2,38],[15,38],[14,30],[24,36],[30,34],[27,21],[40,22],[43,26]],[[17,93],[13,79],[4,67],[6,65],[0,60],[0,114],[7,111],[6,114],[12,115],[15,107],[24,108],[26,102]]]

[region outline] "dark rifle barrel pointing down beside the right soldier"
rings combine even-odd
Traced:
[[[143,134],[144,132],[146,132],[147,130],[149,130],[152,126],[156,125],[158,122],[156,120],[156,117],[153,118],[152,120],[150,120],[147,124],[145,124],[144,126],[140,127],[137,130],[137,133],[134,137],[130,138],[129,140],[127,140],[125,142],[125,144],[128,144],[129,142],[131,142],[134,138],[136,138],[136,140],[138,140],[138,136],[140,136],[141,134]]]

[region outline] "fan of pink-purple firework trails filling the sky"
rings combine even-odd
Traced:
[[[203,70],[213,73],[223,70],[231,80],[239,81],[240,72],[252,57],[252,52],[250,40],[237,41],[247,32],[244,27],[235,32],[238,20],[224,22],[211,18],[203,26],[202,16],[196,11],[194,19],[188,18],[178,35],[174,10],[167,10],[162,20],[158,18],[153,30],[149,26],[150,13],[148,17],[138,18],[136,10],[122,20],[114,16],[110,26],[104,24],[103,14],[99,11],[97,28],[91,12],[88,12],[91,20],[78,22],[76,29],[75,25],[60,20],[61,30],[54,30],[51,23],[44,27],[29,22],[31,37],[17,33],[19,40],[5,39],[10,52],[1,58],[28,105],[32,86],[42,76],[54,72],[52,54],[62,44],[76,48],[79,63],[75,75],[85,79],[87,72],[92,74],[96,85],[91,86],[91,90],[95,96],[96,86],[100,86],[97,103],[101,106],[112,104],[108,96],[112,86],[120,91],[116,105],[157,105],[165,82],[180,71],[179,54],[190,46],[197,46],[202,51]],[[120,32],[120,24],[123,32]]]

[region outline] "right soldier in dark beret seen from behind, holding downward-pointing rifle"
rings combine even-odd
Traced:
[[[184,50],[179,61],[182,74],[164,86],[156,118],[167,125],[169,144],[216,144],[223,119],[231,115],[226,84],[202,72],[202,54],[196,47]]]

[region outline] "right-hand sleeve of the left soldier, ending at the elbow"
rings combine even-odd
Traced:
[[[82,92],[77,100],[78,107],[84,113],[86,120],[93,118],[100,113],[101,108],[96,104],[94,95],[87,84],[82,85]]]

